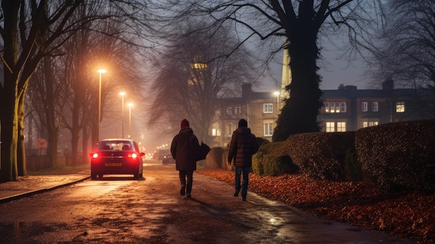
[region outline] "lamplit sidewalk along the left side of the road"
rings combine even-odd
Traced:
[[[90,178],[88,170],[74,174],[19,177],[18,181],[0,184],[0,204],[43,193]]]

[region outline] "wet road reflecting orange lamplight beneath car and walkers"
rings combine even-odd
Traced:
[[[194,174],[179,194],[174,165],[146,161],[144,178],[104,176],[0,205],[0,243],[414,243],[319,220]]]

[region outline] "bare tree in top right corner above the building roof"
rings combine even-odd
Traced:
[[[377,42],[377,71],[398,86],[435,86],[434,1],[388,1],[386,28]]]

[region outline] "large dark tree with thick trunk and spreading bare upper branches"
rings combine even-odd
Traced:
[[[361,5],[364,3],[363,5]],[[369,12],[373,1],[345,0],[300,0],[300,1],[188,1],[179,3],[182,8],[177,17],[186,13],[197,16],[211,16],[216,26],[231,22],[239,31],[240,43],[252,38],[273,40],[279,38],[280,46],[288,51],[290,58],[291,83],[286,90],[289,98],[274,129],[273,140],[286,140],[288,135],[318,131],[317,115],[322,106],[319,88],[321,78],[318,74],[320,59],[319,35],[341,31],[340,26],[347,26],[353,38],[352,43],[359,43],[354,35],[361,33],[360,27],[370,23]],[[373,5],[374,6],[374,5]],[[358,16],[357,16],[358,15]],[[355,24],[360,22],[360,26]],[[362,24],[364,22],[364,24]],[[270,53],[277,53],[271,49]]]

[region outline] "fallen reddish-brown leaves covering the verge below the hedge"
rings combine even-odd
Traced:
[[[234,183],[234,172],[197,170]],[[364,182],[314,180],[302,174],[278,177],[249,174],[249,191],[320,218],[385,231],[418,243],[435,243],[435,194],[386,193]]]

